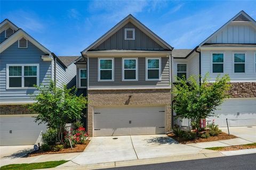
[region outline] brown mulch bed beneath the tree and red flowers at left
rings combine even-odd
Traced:
[[[38,151],[32,151],[29,154],[27,154],[27,157],[31,156],[38,156],[38,155],[45,155],[45,154],[65,154],[65,153],[73,153],[73,152],[83,152],[84,149],[87,147],[89,144],[89,140],[87,140],[84,144],[77,144],[73,149],[71,148],[64,148],[60,151],[43,151],[38,150]]]

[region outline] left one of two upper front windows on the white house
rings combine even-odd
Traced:
[[[212,72],[213,73],[223,73],[223,53],[212,53]]]

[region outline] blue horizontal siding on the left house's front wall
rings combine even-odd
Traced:
[[[6,64],[39,64],[39,83],[49,84],[52,62],[44,62],[42,50],[28,41],[28,48],[18,48],[18,41],[0,53],[0,102],[33,101],[35,89],[6,89]]]

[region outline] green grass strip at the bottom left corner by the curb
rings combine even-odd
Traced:
[[[2,166],[1,170],[30,170],[30,169],[43,169],[43,168],[54,168],[61,164],[68,162],[67,160],[50,161],[44,163],[31,163],[31,164],[11,164]]]

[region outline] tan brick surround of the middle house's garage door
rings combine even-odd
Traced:
[[[132,96],[129,98],[129,96]],[[93,133],[93,106],[165,105],[166,132],[171,131],[171,90],[88,90],[88,133]]]

